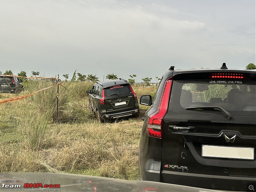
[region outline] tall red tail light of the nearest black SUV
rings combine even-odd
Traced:
[[[170,78],[165,81],[164,89],[156,112],[148,117],[147,132],[151,137],[162,138],[163,118],[167,113],[171,87],[172,79]]]

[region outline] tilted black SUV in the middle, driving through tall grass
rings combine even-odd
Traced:
[[[89,95],[91,110],[100,122],[140,115],[139,103],[131,84],[124,79],[96,82]]]

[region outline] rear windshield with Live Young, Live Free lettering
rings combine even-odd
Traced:
[[[174,80],[169,112],[209,114],[208,110],[195,111],[186,108],[218,106],[231,115],[255,116],[255,91],[255,80],[249,78]]]

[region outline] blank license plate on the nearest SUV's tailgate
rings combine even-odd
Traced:
[[[203,157],[254,159],[254,148],[202,145]]]

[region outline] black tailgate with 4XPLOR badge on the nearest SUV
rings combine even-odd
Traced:
[[[219,73],[173,76],[163,120],[162,182],[180,184],[174,172],[255,180],[255,73]]]

